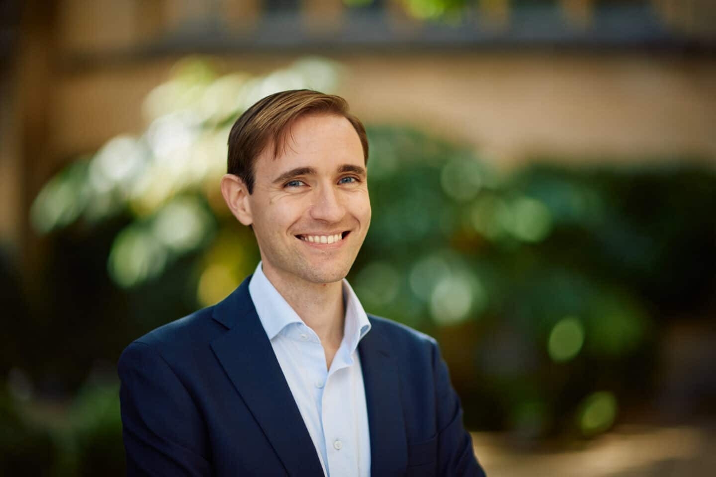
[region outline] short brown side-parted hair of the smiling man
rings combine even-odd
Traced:
[[[274,157],[286,145],[291,124],[306,114],[335,114],[352,124],[368,162],[368,139],[357,117],[348,112],[345,99],[311,89],[291,89],[271,94],[246,109],[228,134],[228,173],[241,177],[248,193],[253,192],[253,163],[266,147],[273,145]]]

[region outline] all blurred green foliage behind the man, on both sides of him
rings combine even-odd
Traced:
[[[58,475],[122,473],[117,387],[87,384],[93,363],[221,300],[256,266],[251,230],[218,191],[233,120],[277,90],[330,92],[340,74],[319,59],[264,77],[182,62],[147,97],[143,134],[112,139],[40,192],[42,291],[11,335],[42,352],[13,365],[39,391],[76,397],[54,441],[12,410],[3,419]],[[715,310],[712,170],[536,158],[506,173],[415,129],[368,134],[373,220],[349,280],[369,312],[440,340],[468,427],[606,431],[649,395],[664,322]]]

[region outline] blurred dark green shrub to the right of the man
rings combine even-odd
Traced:
[[[660,325],[714,308],[710,169],[498,174],[414,131],[369,137],[374,220],[352,282],[368,310],[440,339],[470,425],[603,432],[619,400],[649,395]]]

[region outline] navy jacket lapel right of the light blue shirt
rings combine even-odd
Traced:
[[[358,346],[368,408],[371,475],[402,475],[407,466],[407,442],[400,373],[390,357],[389,343],[377,328],[365,335]]]

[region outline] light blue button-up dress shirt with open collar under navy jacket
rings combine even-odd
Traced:
[[[331,368],[314,333],[263,274],[261,262],[248,284],[266,335],[304,418],[326,477],[369,477],[370,439],[358,343],[368,316],[347,280],[344,334]]]

